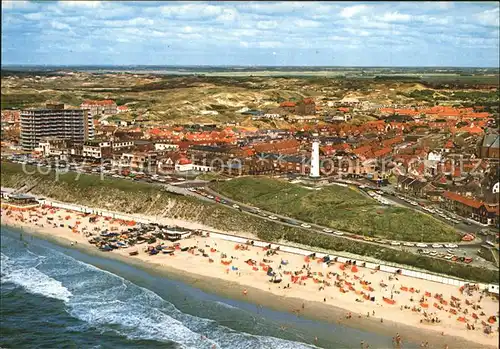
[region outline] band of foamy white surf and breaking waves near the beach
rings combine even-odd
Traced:
[[[129,339],[173,342],[182,348],[301,349],[314,346],[238,332],[219,323],[186,314],[158,294],[55,250],[1,254],[2,282],[65,302],[71,316],[102,331]],[[223,302],[207,306],[238,308]],[[255,320],[255,319],[254,319]],[[255,323],[252,328],[262,328]]]

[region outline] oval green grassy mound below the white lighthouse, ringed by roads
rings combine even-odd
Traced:
[[[212,184],[222,195],[303,221],[402,241],[459,241],[440,221],[400,207],[384,207],[355,188],[310,190],[284,181],[243,177]]]

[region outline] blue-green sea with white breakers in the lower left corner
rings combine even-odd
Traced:
[[[390,337],[225,299],[21,230],[1,226],[0,236],[1,348],[392,347]]]

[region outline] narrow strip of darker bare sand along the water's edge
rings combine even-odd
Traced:
[[[71,236],[70,234],[67,234],[68,236],[57,236],[52,234],[49,228],[30,226],[28,224],[2,223],[2,225],[6,226],[7,228],[20,229],[27,234],[50,241],[65,248],[74,248],[91,256],[113,259],[134,266],[152,275],[181,281],[206,293],[216,294],[220,297],[248,302],[257,306],[266,307],[280,312],[292,313],[296,316],[300,316],[302,318],[310,320],[342,325],[350,328],[364,330],[367,332],[387,335],[389,337],[394,336],[396,333],[400,333],[404,338],[404,341],[409,341],[415,344],[421,342],[422,338],[425,338],[426,341],[429,342],[431,348],[443,348],[445,345],[448,345],[448,348],[450,349],[464,347],[471,349],[497,348],[496,346],[487,345],[484,343],[468,341],[462,337],[450,335],[442,336],[435,330],[397,323],[385,319],[384,322],[381,323],[379,321],[379,318],[366,318],[365,316],[360,315],[360,317],[353,316],[353,318],[346,320],[345,314],[346,312],[350,311],[347,307],[343,308],[337,305],[325,304],[318,301],[303,300],[297,297],[283,297],[256,287],[245,286],[245,289],[248,291],[248,293],[246,295],[243,295],[241,292],[242,285],[236,281],[225,280],[214,276],[200,275],[183,269],[175,268],[170,265],[158,264],[154,262],[151,263],[114,252],[100,252],[94,246],[88,243],[72,244],[72,240],[69,238]],[[305,307],[301,309],[303,303],[305,303]],[[298,313],[295,313],[294,310],[298,310],[300,312],[300,315],[297,315]],[[355,312],[353,311],[353,315],[354,314]]]

